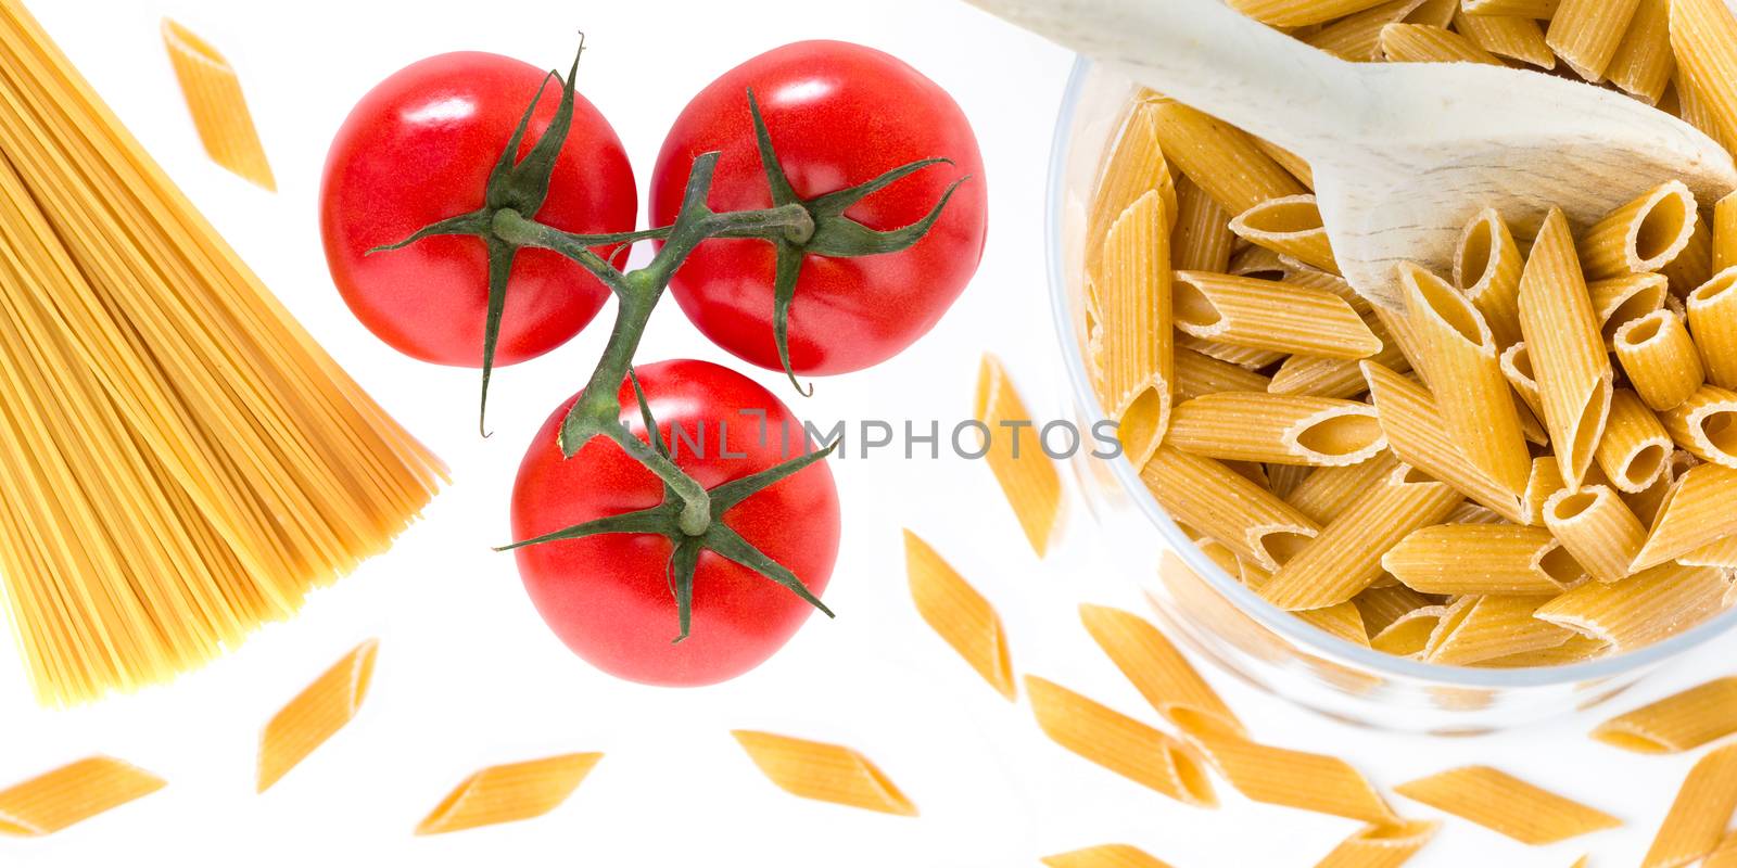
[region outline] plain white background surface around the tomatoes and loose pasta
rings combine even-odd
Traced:
[[[868,373],[822,380],[813,399],[759,377],[797,413],[938,418],[971,411],[983,351],[1007,359],[1032,411],[1061,410],[1044,300],[1042,189],[1070,57],[940,0],[236,3],[36,0],[35,12],[97,90],[313,333],[453,467],[455,484],[398,547],[301,618],[168,687],[71,712],[30,701],[0,653],[0,785],[92,752],[170,785],[42,840],[0,838],[0,865],[598,865],[598,866],[1035,866],[1049,852],[1126,840],[1178,866],[1310,866],[1357,823],[1254,806],[1226,786],[1219,811],[1171,802],[1046,741],[1028,708],[988,689],[936,639],[905,590],[900,529],[929,538],[1001,609],[1020,672],[1042,674],[1153,720],[1086,639],[1079,599],[1138,606],[1126,576],[1093,566],[1075,509],[1047,562],[1023,543],[980,462],[889,457],[835,462],[846,536],[829,590],[837,621],[813,620],[759,670],[719,687],[622,684],[571,656],[532,609],[511,557],[507,495],[526,439],[575,391],[603,319],[573,344],[495,378],[495,437],[474,436],[476,373],[419,365],[368,335],[327,278],[314,201],[328,137],[368,87],[429,54],[483,49],[565,66],[573,31],[591,47],[580,87],[613,122],[644,191],[662,134],[723,69],[799,38],[849,38],[912,62],[964,106],[990,182],[990,245],[947,319]],[[754,9],[754,12],[749,12]],[[240,68],[280,194],[208,163],[156,35],[170,14]],[[610,316],[606,311],[604,316]],[[665,306],[641,359],[728,361]],[[360,717],[266,795],[254,795],[259,726],[358,641],[380,637]],[[1615,708],[1730,672],[1737,637],[1714,642]],[[1423,740],[1346,729],[1209,672],[1266,741],[1341,753],[1393,785],[1490,762],[1621,816],[1626,826],[1529,849],[1449,821],[1412,865],[1635,865],[1688,757],[1636,757],[1584,733],[1596,717],[1499,738]],[[1598,715],[1602,717],[1602,715]],[[1155,722],[1155,720],[1153,720]],[[792,799],[728,731],[756,727],[860,748],[917,802],[919,819]],[[424,812],[471,771],[556,752],[606,759],[556,812],[530,823],[417,838]],[[1409,816],[1436,816],[1405,800]]]

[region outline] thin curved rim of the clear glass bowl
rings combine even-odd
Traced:
[[[1068,300],[1068,283],[1067,274],[1063,273],[1065,257],[1061,252],[1063,196],[1067,193],[1063,189],[1063,179],[1067,177],[1068,146],[1072,139],[1070,134],[1079,109],[1080,94],[1084,92],[1086,78],[1091,69],[1091,59],[1075,57],[1073,68],[1068,73],[1067,89],[1061,95],[1061,108],[1056,116],[1056,128],[1049,148],[1049,175],[1046,179],[1044,255],[1047,260],[1046,273],[1049,281],[1051,318],[1056,325],[1056,339],[1061,344],[1068,391],[1072,392],[1075,404],[1089,417],[1089,422],[1096,424],[1100,420],[1106,420],[1108,413],[1103,411],[1103,406],[1091,387],[1091,380],[1086,375],[1084,354],[1073,337],[1073,311]],[[1737,609],[1730,609],[1650,646],[1638,648],[1635,651],[1622,651],[1586,663],[1570,663],[1562,667],[1443,667],[1438,663],[1423,663],[1393,656],[1346,642],[1344,639],[1337,639],[1327,632],[1310,627],[1294,618],[1291,613],[1273,606],[1259,594],[1249,590],[1242,582],[1237,582],[1230,576],[1230,573],[1212,562],[1212,559],[1209,559],[1199,545],[1181,533],[1169,514],[1159,505],[1157,498],[1153,498],[1146,486],[1139,481],[1139,474],[1126,457],[1119,455],[1110,458],[1110,470],[1117,483],[1120,483],[1124,493],[1139,507],[1145,517],[1159,529],[1183,562],[1186,562],[1190,569],[1211,585],[1212,590],[1223,594],[1232,604],[1259,621],[1261,627],[1273,630],[1284,639],[1303,646],[1310,653],[1322,658],[1374,670],[1393,679],[1485,689],[1549,687],[1586,681],[1603,681],[1664,663],[1725,634],[1732,627],[1737,627]]]

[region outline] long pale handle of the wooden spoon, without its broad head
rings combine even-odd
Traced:
[[[1136,82],[1301,153],[1360,139],[1370,97],[1357,64],[1219,0],[968,0]]]

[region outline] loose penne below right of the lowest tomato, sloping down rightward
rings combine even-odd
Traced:
[[[862,753],[823,741],[735,729],[742,750],[780,790],[799,799],[917,816],[917,806]]]

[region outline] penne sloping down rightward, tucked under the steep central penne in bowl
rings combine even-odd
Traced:
[[[1364,377],[1369,380],[1370,401],[1376,404],[1381,431],[1388,434],[1393,455],[1454,486],[1501,517],[1525,524],[1518,498],[1459,451],[1442,422],[1435,398],[1424,387],[1381,365],[1364,363]]]

